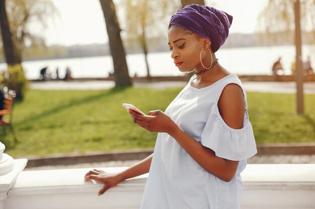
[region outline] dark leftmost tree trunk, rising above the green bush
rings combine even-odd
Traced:
[[[0,25],[7,64],[21,64],[21,56],[12,41],[12,34],[6,11],[6,0],[0,0]]]

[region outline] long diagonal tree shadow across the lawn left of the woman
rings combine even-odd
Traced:
[[[28,117],[28,118],[24,118],[24,120],[19,121],[17,123],[14,123],[14,125],[15,126],[19,126],[19,125],[25,124],[28,121],[38,120],[40,118],[47,117],[47,116],[49,116],[51,114],[54,114],[56,112],[65,110],[65,109],[73,107],[73,106],[82,105],[82,104],[85,104],[87,102],[99,100],[99,99],[101,99],[103,97],[107,97],[107,96],[111,96],[111,95],[116,94],[116,93],[124,92],[127,89],[129,89],[129,88],[132,88],[132,87],[116,87],[116,88],[109,89],[105,93],[101,92],[100,94],[97,94],[97,95],[93,95],[93,96],[90,96],[90,97],[85,97],[83,99],[73,100],[67,105],[56,106],[56,107],[54,107],[54,108],[52,108],[52,109],[50,109],[50,110],[48,110],[46,112],[43,112],[41,114],[34,115],[34,116]]]

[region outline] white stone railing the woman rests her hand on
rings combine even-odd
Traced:
[[[139,208],[147,175],[125,180],[98,196],[102,185],[83,179],[88,170],[23,171],[3,200],[3,208]],[[315,208],[315,164],[249,164],[242,178],[242,209]]]

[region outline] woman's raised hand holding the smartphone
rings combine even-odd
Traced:
[[[165,132],[170,134],[177,127],[176,123],[161,110],[150,111],[148,115],[141,115],[133,110],[129,110],[128,112],[134,123],[150,132]]]

